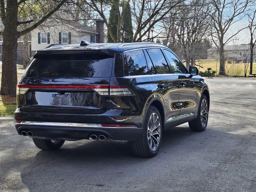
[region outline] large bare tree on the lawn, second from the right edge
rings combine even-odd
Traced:
[[[220,54],[219,75],[226,75],[224,46],[244,28],[230,36],[227,36],[227,33],[230,26],[244,17],[251,0],[210,0],[210,2],[214,7],[214,11],[209,13],[212,18],[212,41]]]

